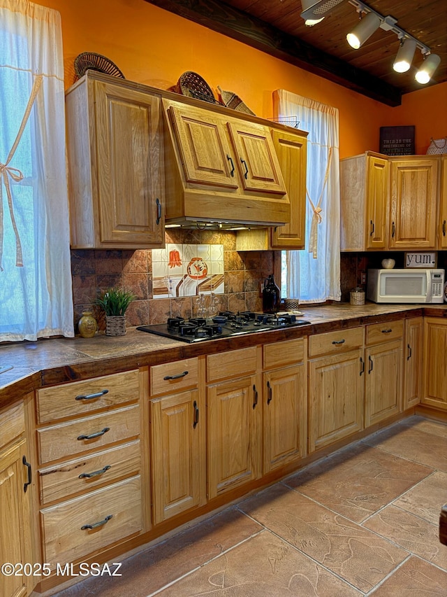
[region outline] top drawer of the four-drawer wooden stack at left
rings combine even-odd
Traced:
[[[65,416],[82,416],[84,413],[138,400],[138,370],[42,388],[36,394],[39,423],[50,423]]]

